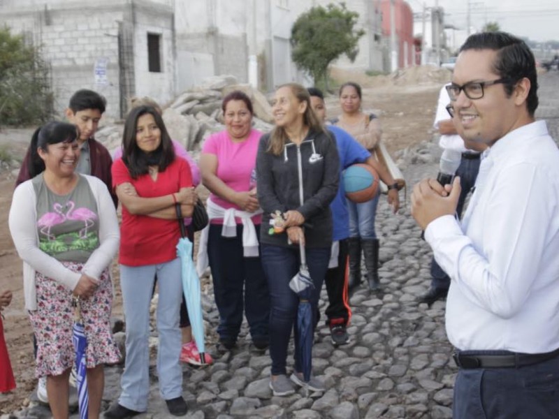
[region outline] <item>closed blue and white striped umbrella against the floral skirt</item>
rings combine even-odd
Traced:
[[[87,348],[87,339],[82,320],[82,312],[80,308],[80,300],[74,298],[72,301],[74,307],[74,325],[72,341],[75,351],[75,387],[78,390],[78,407],[80,409],[80,419],[87,419],[87,407],[89,406],[89,395],[87,395],[87,366],[85,364],[85,349]]]

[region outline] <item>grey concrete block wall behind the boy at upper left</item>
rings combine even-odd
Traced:
[[[78,89],[99,91],[107,99],[106,115],[119,116],[117,20],[122,16],[121,8],[51,8],[48,16],[44,10],[16,10],[7,15],[6,24],[13,33],[33,33],[43,57],[50,61],[59,116]],[[100,86],[95,84],[94,66],[102,57],[108,59],[108,84]]]

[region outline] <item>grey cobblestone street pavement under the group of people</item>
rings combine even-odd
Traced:
[[[537,117],[547,119],[558,140],[559,74],[546,73],[539,82]],[[444,332],[444,302],[435,302],[430,308],[416,302],[430,284],[431,252],[409,214],[412,186],[423,177],[436,175],[439,154],[436,138],[426,138],[418,147],[400,152],[408,184],[407,200],[399,214],[392,216],[383,197],[377,213],[383,292],[372,295],[361,288],[351,297],[348,345],[333,346],[324,321],[319,323],[313,367],[314,374],[326,383],[324,395],[307,398],[301,390],[290,397],[273,397],[268,388],[268,353],[255,351],[249,339],[241,337],[231,353],[220,354],[210,347],[215,355],[211,367],[184,366],[184,397],[189,405],[185,418],[452,417],[456,366]],[[326,301],[323,291],[323,320]],[[215,329],[215,310],[208,314],[208,321]],[[245,327],[242,335],[247,335]],[[149,410],[138,418],[172,418],[159,397],[153,363],[152,358]],[[291,365],[290,356],[288,369]],[[119,395],[121,372],[122,367],[106,367],[105,407]],[[37,404],[32,395],[28,408],[9,417],[50,418],[50,411]]]

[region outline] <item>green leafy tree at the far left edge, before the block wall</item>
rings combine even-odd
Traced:
[[[36,47],[0,28],[0,123],[27,125],[52,117],[48,66]]]

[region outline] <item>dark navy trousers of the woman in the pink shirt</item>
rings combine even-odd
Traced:
[[[260,237],[260,226],[254,227]],[[260,258],[245,258],[242,252],[242,224],[237,225],[237,237],[223,237],[221,225],[210,225],[208,260],[219,311],[217,333],[222,338],[237,339],[244,311],[252,339],[267,340],[270,321],[268,282]]]

